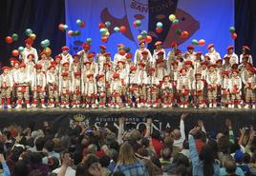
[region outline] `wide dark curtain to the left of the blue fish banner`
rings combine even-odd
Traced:
[[[25,46],[25,30],[36,34],[34,47],[42,49],[40,42],[51,41],[53,55],[65,45],[65,33],[58,24],[65,23],[65,0],[1,0],[0,1],[0,60],[7,64],[11,50]],[[19,40],[8,45],[5,37],[17,33]],[[39,51],[39,50],[38,50]]]

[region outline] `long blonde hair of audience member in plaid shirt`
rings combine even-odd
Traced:
[[[119,150],[117,164],[130,166],[135,163],[137,163],[137,159],[133,147],[128,142],[123,143]]]

